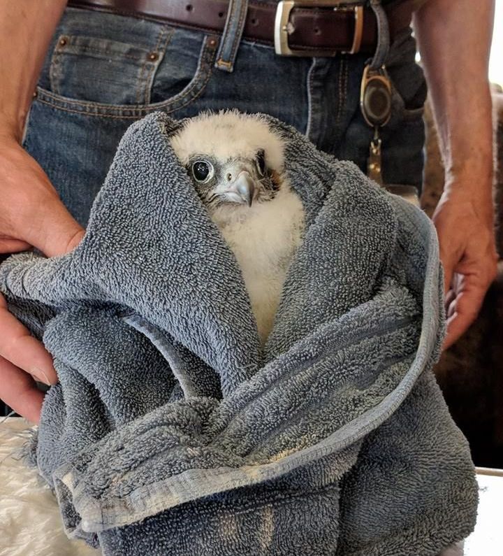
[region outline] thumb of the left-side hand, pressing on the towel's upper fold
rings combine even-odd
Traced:
[[[50,209],[38,213],[38,221],[31,227],[26,241],[48,257],[57,257],[75,249],[85,234],[85,229],[73,218],[59,199],[54,199]]]

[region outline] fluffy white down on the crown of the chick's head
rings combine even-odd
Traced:
[[[278,172],[283,167],[283,141],[260,116],[237,111],[205,112],[187,120],[170,143],[182,164],[195,154],[254,159],[265,150],[265,162]]]

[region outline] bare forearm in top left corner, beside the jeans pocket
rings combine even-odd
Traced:
[[[22,136],[45,52],[66,0],[0,1],[0,135]]]

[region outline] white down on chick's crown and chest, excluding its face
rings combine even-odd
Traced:
[[[182,164],[194,155],[249,159],[264,150],[265,164],[278,176],[283,170],[282,138],[260,115],[237,111],[202,113],[187,120],[170,139]],[[274,323],[286,271],[302,239],[304,211],[297,194],[282,183],[276,197],[251,207],[225,204],[211,214],[241,268],[258,333],[265,343]]]

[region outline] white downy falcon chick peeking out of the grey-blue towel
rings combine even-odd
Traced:
[[[282,137],[259,115],[222,111],[187,120],[170,143],[238,261],[264,344],[305,225]]]

